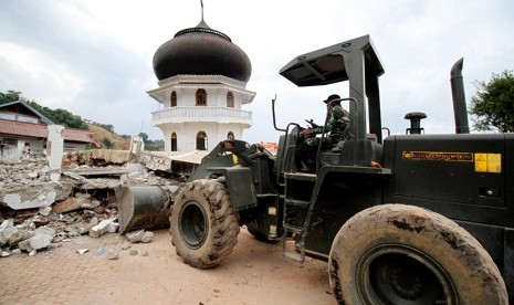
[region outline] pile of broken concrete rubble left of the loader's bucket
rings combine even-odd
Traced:
[[[52,182],[45,159],[0,164],[0,256],[22,252],[35,255],[75,236],[117,232],[117,187],[170,183],[137,164],[102,170],[108,173],[119,168],[128,172],[123,180],[109,175],[81,176],[76,169],[94,168],[74,164],[63,168],[59,182]],[[151,241],[151,232],[146,233],[145,241]],[[108,254],[117,257],[116,251]]]

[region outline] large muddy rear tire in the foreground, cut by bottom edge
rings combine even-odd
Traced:
[[[507,304],[505,283],[482,245],[429,210],[366,209],[337,233],[329,281],[339,304]]]

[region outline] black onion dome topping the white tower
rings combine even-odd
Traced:
[[[159,81],[178,74],[219,74],[248,82],[252,65],[228,35],[212,30],[202,20],[196,28],[177,32],[157,49],[154,72]]]

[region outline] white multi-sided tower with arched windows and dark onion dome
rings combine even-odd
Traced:
[[[148,95],[161,104],[151,113],[166,151],[210,150],[228,137],[241,138],[252,125],[254,92],[246,54],[230,38],[201,22],[164,43],[154,55],[158,86]]]

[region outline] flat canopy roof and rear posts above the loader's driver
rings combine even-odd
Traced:
[[[376,135],[377,143],[381,144],[378,77],[384,72],[371,39],[365,35],[300,55],[282,67],[280,74],[301,87],[348,81],[349,97],[356,99],[349,109],[352,119],[356,120],[350,134],[366,139],[368,113],[369,134]]]

